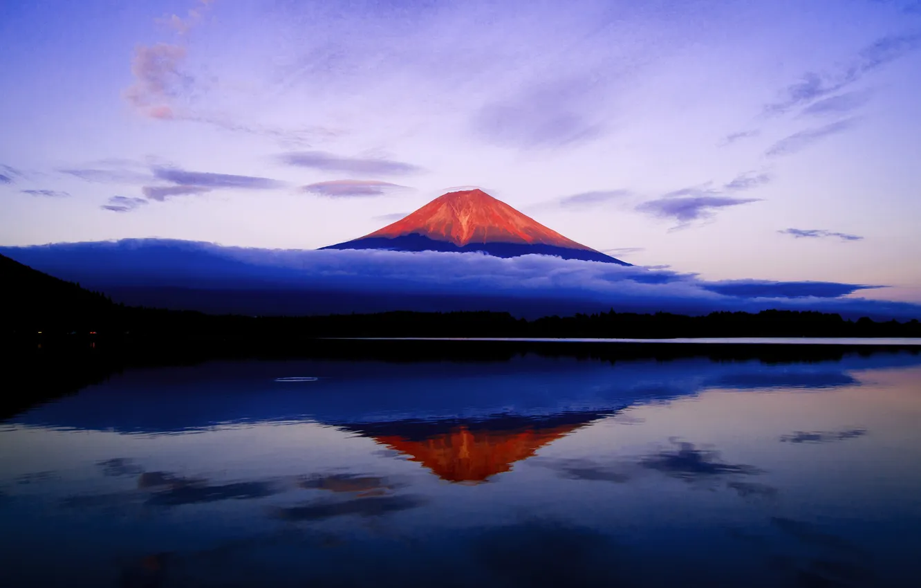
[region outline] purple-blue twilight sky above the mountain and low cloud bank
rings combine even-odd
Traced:
[[[631,264],[921,302],[917,0],[8,1],[0,245],[315,249],[477,186]]]

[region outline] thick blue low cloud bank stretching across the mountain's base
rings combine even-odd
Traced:
[[[336,297],[347,291],[365,293],[376,304],[390,300],[380,308],[391,310],[407,310],[412,307],[407,300],[429,296],[444,310],[457,306],[458,300],[502,299],[519,300],[513,305],[516,307],[526,300],[555,300],[542,304],[543,313],[546,309],[553,313],[554,308],[576,308],[570,304],[574,303],[578,308],[605,311],[612,306],[636,312],[689,313],[782,308],[877,317],[921,316],[921,307],[913,304],[845,298],[878,285],[706,281],[668,269],[545,255],[503,259],[480,253],[262,250],[169,240],[7,247],[0,248],[0,253],[53,276],[85,284],[272,288],[330,292],[329,296]],[[482,306],[511,310],[503,306],[506,301],[492,306],[484,302]],[[356,306],[352,310],[363,309]]]

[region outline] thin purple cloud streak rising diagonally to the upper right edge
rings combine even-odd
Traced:
[[[893,34],[864,47],[851,62],[837,71],[808,72],[784,89],[783,98],[767,104],[769,114],[789,112],[855,84],[864,75],[921,47],[921,32]]]

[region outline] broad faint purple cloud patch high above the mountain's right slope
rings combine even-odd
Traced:
[[[589,115],[595,82],[560,79],[522,88],[507,100],[484,105],[472,119],[476,135],[507,147],[562,147],[602,135],[603,125]]]

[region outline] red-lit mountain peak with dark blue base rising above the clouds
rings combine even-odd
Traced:
[[[566,239],[482,190],[442,194],[383,229],[322,249],[483,252],[496,257],[540,253],[630,265]]]

